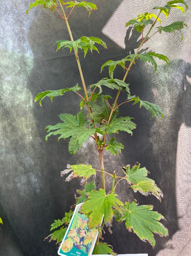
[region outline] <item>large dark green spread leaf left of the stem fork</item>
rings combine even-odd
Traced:
[[[51,135],[60,135],[58,141],[61,138],[70,137],[69,152],[76,154],[76,151],[82,147],[82,144],[88,139],[90,135],[95,133],[94,128],[86,128],[86,119],[82,111],[77,116],[71,114],[60,114],[60,119],[63,123],[57,123],[56,125],[48,125],[45,130],[48,132],[46,135],[46,141]],[[56,130],[50,132],[52,130]]]

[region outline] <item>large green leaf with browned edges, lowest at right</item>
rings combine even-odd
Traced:
[[[155,211],[152,211],[153,206],[141,205],[137,206],[135,201],[132,203],[126,202],[123,207],[123,216],[127,229],[138,235],[138,237],[155,246],[153,233],[160,236],[167,236],[168,230],[159,222],[164,217]]]

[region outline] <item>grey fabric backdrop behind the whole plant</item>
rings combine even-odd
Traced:
[[[98,10],[88,17],[80,9],[73,11],[70,24],[74,40],[96,36],[107,43],[108,49],[88,53],[81,66],[86,84],[93,84],[108,76],[107,69],[100,74],[100,66],[107,60],[119,60],[138,48],[138,33],[126,32],[125,22],[137,14],[152,11],[165,1],[94,1]],[[189,1],[190,2],[190,1]],[[44,128],[59,122],[60,113],[79,112],[77,94],[68,92],[63,97],[34,103],[38,92],[81,86],[75,56],[68,50],[55,52],[56,40],[69,39],[65,23],[56,12],[42,8],[33,9],[28,17],[25,10],[30,1],[4,1],[0,6],[0,216],[4,225],[0,231],[0,255],[57,255],[54,242],[43,242],[50,234],[50,224],[62,218],[75,203],[73,193],[80,188],[79,180],[66,183],[60,171],[66,164],[90,163],[99,168],[98,152],[89,139],[76,155],[68,153],[68,140],[56,137],[45,141]],[[165,24],[184,19],[189,25],[180,35],[162,33],[144,44],[150,51],[170,58],[169,70],[158,62],[153,66],[136,62],[128,74],[131,94],[139,95],[160,105],[165,118],[155,123],[138,104],[124,104],[120,114],[135,117],[137,129],[133,136],[125,132],[116,134],[125,149],[117,156],[104,152],[105,169],[120,174],[120,166],[136,161],[147,167],[156,184],[164,193],[162,202],[154,196],[144,197],[128,189],[126,183],[116,189],[121,200],[136,198],[140,204],[153,204],[154,210],[165,216],[162,223],[169,236],[155,235],[153,250],[129,233],[124,224],[113,223],[113,235],[106,234],[105,242],[112,244],[118,253],[148,253],[149,256],[188,256],[190,248],[190,167],[191,167],[191,71],[190,71],[190,11],[182,17],[172,10],[172,18]],[[75,15],[76,14],[76,15]],[[162,15],[161,15],[162,16]],[[176,17],[177,16],[177,17]],[[81,25],[83,22],[83,25]],[[115,76],[123,79],[123,70],[116,69]],[[116,91],[105,89],[115,97]],[[118,102],[125,99],[120,94]],[[86,112],[87,113],[87,112]],[[98,175],[99,179],[99,175]],[[107,180],[111,184],[111,180]]]

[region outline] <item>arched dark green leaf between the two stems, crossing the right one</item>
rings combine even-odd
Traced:
[[[101,79],[96,84],[91,84],[90,88],[98,87],[100,89],[99,91],[99,94],[100,94],[102,92],[101,85],[105,85],[110,89],[117,89],[117,90],[129,92],[129,84],[126,84],[125,82],[119,79],[108,79],[107,77]]]

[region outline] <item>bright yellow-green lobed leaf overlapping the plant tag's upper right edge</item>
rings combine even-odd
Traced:
[[[103,214],[105,223],[109,223],[113,217],[112,207],[117,208],[121,212],[119,206],[124,205],[115,197],[117,194],[106,195],[105,190],[102,188],[99,191],[93,190],[88,195],[88,200],[83,203],[81,212],[86,215],[88,214],[88,226],[90,229],[100,225]]]

